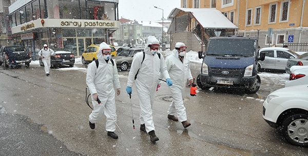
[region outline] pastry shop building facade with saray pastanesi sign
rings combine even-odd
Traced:
[[[7,44],[22,45],[33,54],[44,44],[80,56],[90,44],[112,44],[119,0],[17,0],[8,6]]]

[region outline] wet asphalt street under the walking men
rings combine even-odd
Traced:
[[[191,66],[197,77],[200,64]],[[84,66],[80,66],[83,68]],[[264,82],[260,93],[184,89],[191,126],[167,119],[172,100],[162,83],[153,106],[157,143],[139,130],[136,88],[126,94],[127,71],[119,71],[121,94],[115,97],[118,140],[105,131],[105,118],[89,128],[91,109],[85,103],[86,70],[33,66],[0,67],[0,155],[306,155],[307,148],[288,144],[262,118],[262,101],[283,86]],[[271,87],[269,87],[271,86]],[[270,88],[270,89],[266,89]],[[134,120],[134,124],[132,124]],[[133,129],[133,126],[136,129]]]

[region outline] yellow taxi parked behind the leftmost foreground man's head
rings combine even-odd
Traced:
[[[111,51],[112,51],[111,56],[117,56],[117,50],[115,50],[114,46],[109,45],[109,47],[111,48]],[[82,53],[81,62],[83,64],[89,64],[93,60],[98,59],[97,53],[99,51],[99,48],[100,48],[100,45],[91,44],[90,46],[88,46],[85,52]]]

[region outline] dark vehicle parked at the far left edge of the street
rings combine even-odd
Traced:
[[[13,51],[17,64],[24,63],[26,67],[30,66],[30,62],[32,61],[31,53],[26,52],[25,49],[22,46],[3,46],[3,47],[1,47],[1,50],[0,50],[0,57],[1,57],[0,58],[0,66],[2,64],[4,64],[6,68],[8,68],[10,66],[8,56],[5,53],[6,48],[10,48]]]

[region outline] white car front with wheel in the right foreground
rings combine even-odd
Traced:
[[[271,127],[280,128],[289,143],[308,147],[308,85],[269,94],[263,103],[263,119]]]

